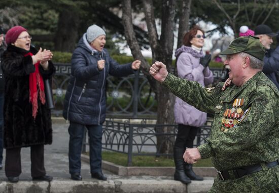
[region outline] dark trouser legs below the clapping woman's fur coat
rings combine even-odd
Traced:
[[[21,148],[6,149],[5,173],[7,177],[16,177],[21,174]],[[44,145],[30,146],[31,176],[46,175],[44,163]]]

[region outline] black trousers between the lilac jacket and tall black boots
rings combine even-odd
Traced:
[[[197,135],[198,127],[189,125],[178,125],[178,133],[175,142],[175,147],[178,148],[193,148],[193,142]]]

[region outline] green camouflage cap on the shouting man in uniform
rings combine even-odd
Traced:
[[[237,54],[240,52],[245,52],[250,54],[257,59],[263,61],[263,57],[265,54],[265,48],[261,44],[258,37],[253,36],[241,36],[234,39],[228,49],[224,50],[220,54],[228,55],[228,54]]]

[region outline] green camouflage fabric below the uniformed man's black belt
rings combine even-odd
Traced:
[[[242,192],[279,192],[279,165],[267,168],[237,179],[222,181],[215,177],[214,183],[208,192],[242,193]]]

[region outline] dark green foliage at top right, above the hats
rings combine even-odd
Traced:
[[[237,1],[217,1],[219,2],[226,13],[232,19],[237,12],[238,5]],[[274,1],[262,0],[262,1],[254,1],[254,0],[246,0],[240,1],[240,11],[238,15],[235,17],[235,29],[236,32],[239,32],[239,27],[242,25],[249,26],[250,29],[253,29],[262,24],[269,11],[271,10]],[[247,13],[245,8],[247,8]],[[214,14],[213,14],[214,13]],[[278,5],[275,5],[274,10],[265,21],[264,24],[268,25],[273,29],[273,31],[277,31],[279,29],[277,25],[279,16]],[[224,15],[222,11],[217,7],[217,5],[213,1],[203,1],[196,0],[192,1],[191,5],[191,23],[197,23],[199,21],[211,22],[216,24],[217,27],[212,32],[219,31],[221,35],[226,34],[225,28],[227,26],[231,26],[229,20]],[[238,34],[236,34],[238,36]]]

